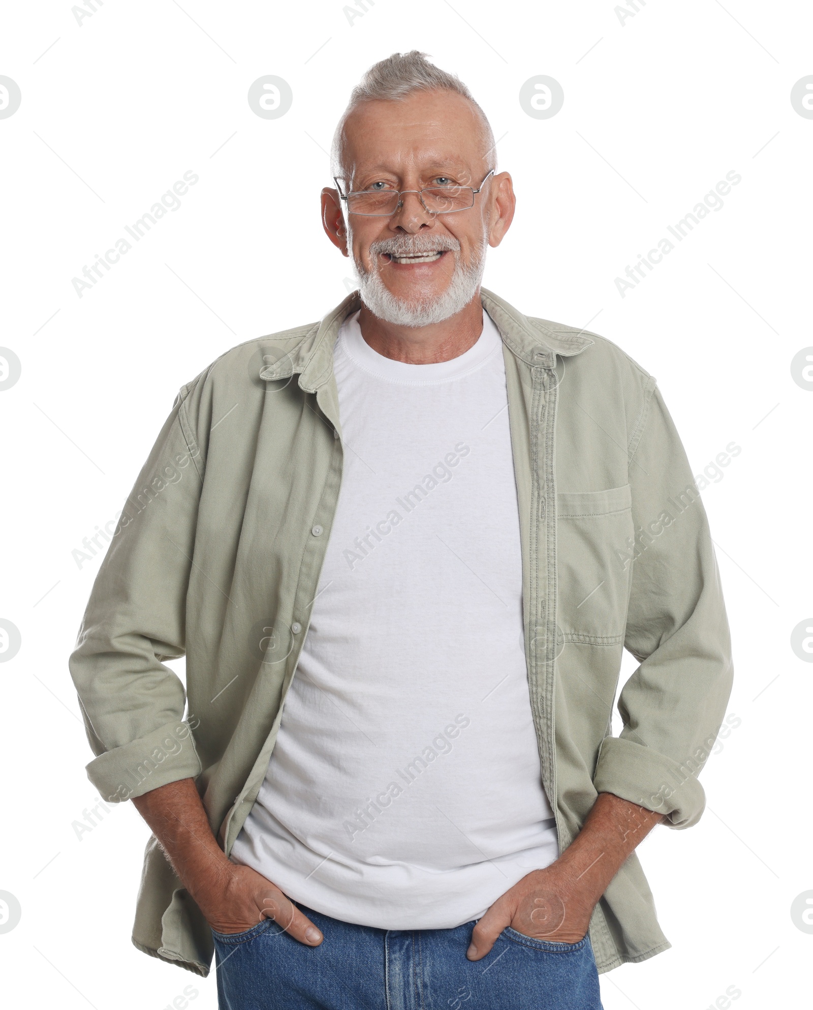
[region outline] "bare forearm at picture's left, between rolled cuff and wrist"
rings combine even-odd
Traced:
[[[132,802],[193,897],[206,882],[229,876],[231,864],[212,833],[193,779],[170,782]]]

